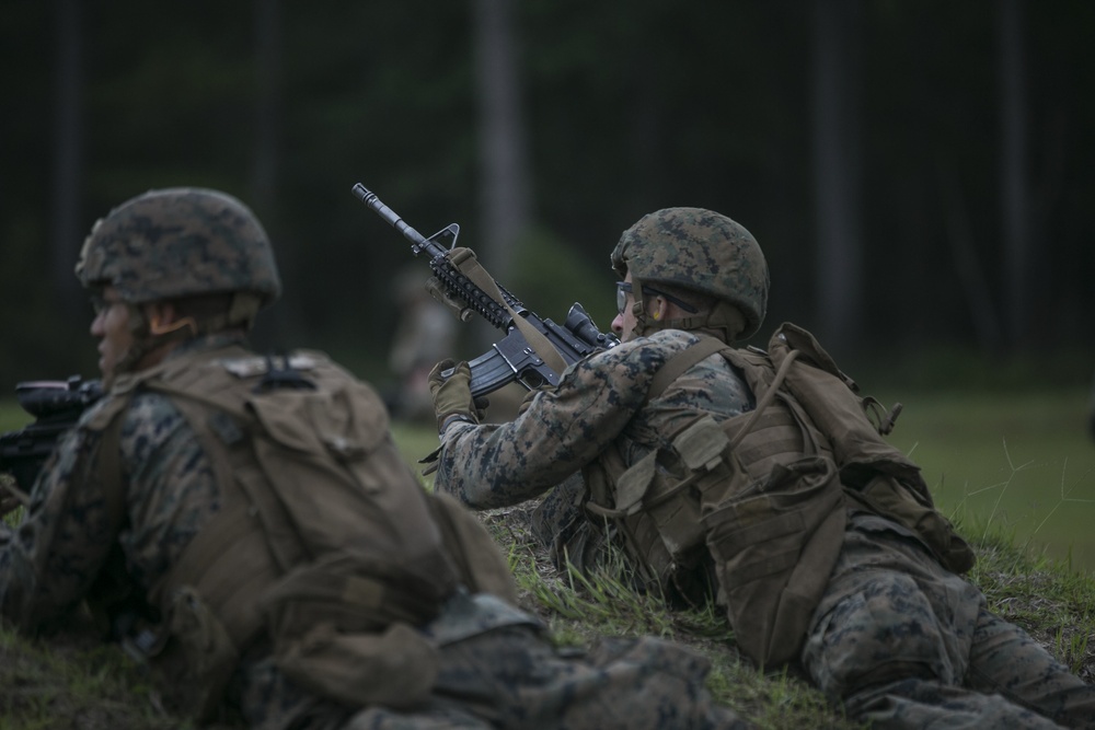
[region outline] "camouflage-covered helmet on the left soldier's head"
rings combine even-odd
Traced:
[[[91,229],[76,274],[84,288],[114,287],[132,304],[247,292],[266,306],[281,293],[254,213],[203,188],[149,190],[114,208]]]

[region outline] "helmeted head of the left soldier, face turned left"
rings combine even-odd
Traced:
[[[100,314],[115,304],[127,310],[129,341],[110,358],[107,385],[169,343],[249,329],[281,293],[254,213],[230,195],[192,187],[150,190],[96,221],[76,274]],[[169,324],[157,311],[161,302],[171,303]]]

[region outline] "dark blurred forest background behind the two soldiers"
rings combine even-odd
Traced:
[[[765,336],[1086,382],[1093,31],[1088,0],[2,0],[0,382],[94,374],[82,240],[173,185],[269,232],[260,346],[383,380],[393,281],[426,266],[358,182],[459,222],[543,316],[607,327],[620,232],[701,206],[768,255]]]

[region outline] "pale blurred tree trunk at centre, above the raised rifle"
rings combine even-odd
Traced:
[[[514,3],[474,0],[473,5],[482,186],[481,230],[473,247],[487,270],[505,285],[511,278],[512,248],[530,217]],[[487,345],[497,339],[497,333],[483,329],[480,338]]]

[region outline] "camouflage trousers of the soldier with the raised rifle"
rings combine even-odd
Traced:
[[[853,518],[803,664],[874,728],[1095,728],[1095,687],[877,518]]]

